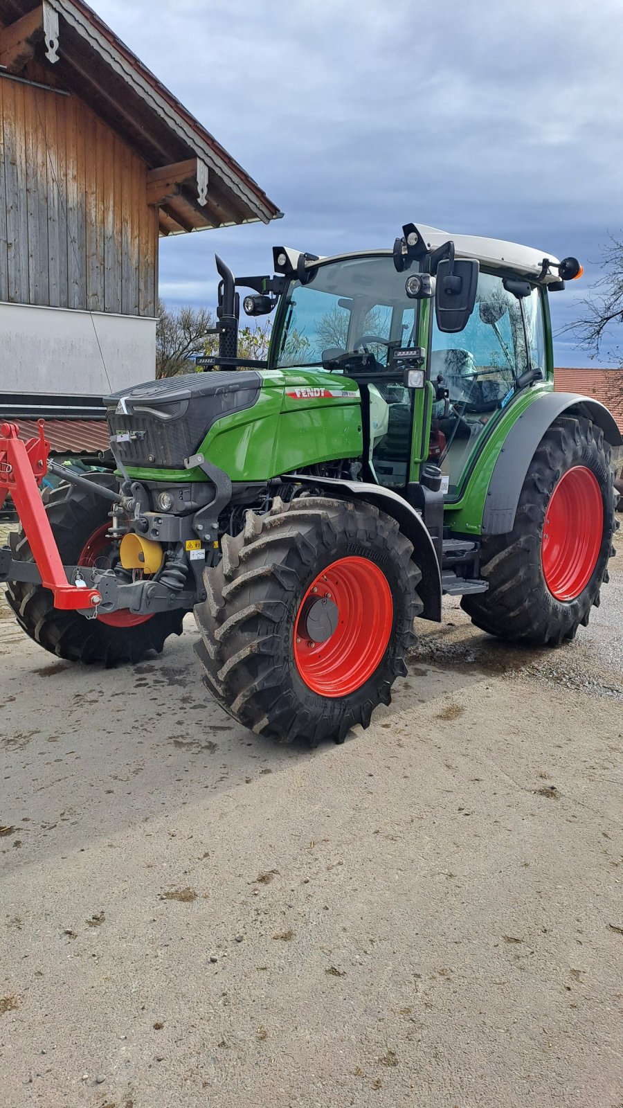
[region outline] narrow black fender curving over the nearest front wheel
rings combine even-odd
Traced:
[[[335,478],[314,478],[304,473],[287,474],[283,481],[296,481],[297,484],[309,484],[325,489],[329,494],[348,500],[362,500],[374,504],[380,512],[391,515],[400,531],[413,544],[418,565],[422,573],[421,599],[423,602],[422,619],[441,619],[441,572],[432,544],[432,538],[415,507],[382,485],[368,484],[365,481],[341,481]]]

